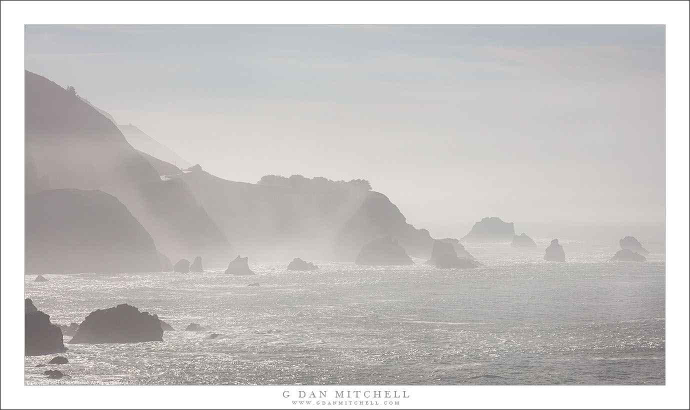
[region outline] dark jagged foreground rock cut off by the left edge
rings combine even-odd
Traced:
[[[36,309],[30,299],[25,299],[24,354],[46,355],[66,350],[60,328],[50,323],[50,316]]]

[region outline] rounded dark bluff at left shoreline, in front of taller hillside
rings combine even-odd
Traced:
[[[26,195],[27,273],[159,271],[151,236],[116,197],[58,189]]]

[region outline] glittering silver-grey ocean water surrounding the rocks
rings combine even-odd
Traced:
[[[483,263],[471,270],[250,260],[248,277],[27,275],[53,323],[128,303],[176,331],[66,343],[60,366],[27,356],[26,384],[664,384],[663,244],[644,244],[648,262],[607,262],[617,244],[561,240],[567,262],[549,263],[537,242],[466,246]],[[47,379],[54,368],[70,378]]]

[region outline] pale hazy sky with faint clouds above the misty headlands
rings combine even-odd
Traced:
[[[368,179],[435,237],[663,232],[664,51],[663,26],[26,26],[26,69],[188,162]]]

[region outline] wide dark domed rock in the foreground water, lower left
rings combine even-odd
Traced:
[[[114,308],[89,313],[70,343],[162,341],[163,329],[158,315],[140,312],[135,306],[128,304],[119,304]]]

